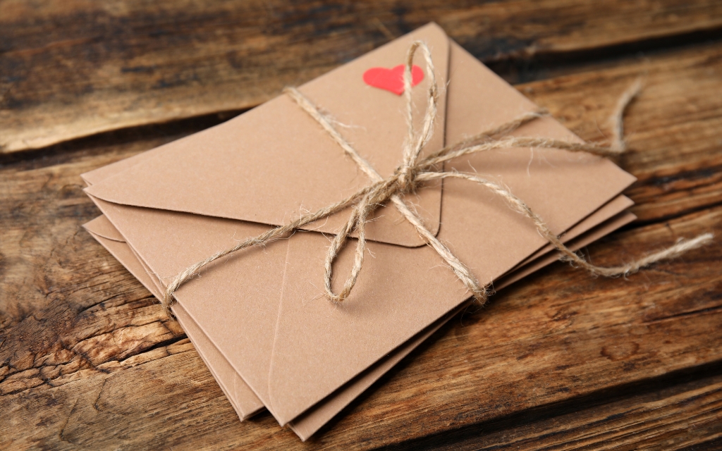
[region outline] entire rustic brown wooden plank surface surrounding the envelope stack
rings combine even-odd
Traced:
[[[79,174],[202,130],[429,21],[584,139],[635,77],[639,221],[455,318],[309,442],[241,423],[80,229]],[[0,0],[0,449],[722,448],[722,3]]]

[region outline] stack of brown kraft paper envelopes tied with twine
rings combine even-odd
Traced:
[[[383,177],[401,162],[404,96],[365,84],[363,74],[402,64],[413,40],[430,47],[443,87],[425,154],[536,110],[433,24],[301,86]],[[423,67],[422,57],[417,60]],[[413,89],[417,121],[427,83]],[[513,134],[579,140],[549,117]],[[634,219],[625,211],[632,202],[620,193],[635,179],[588,154],[505,149],[459,157],[445,170],[504,183],[573,249]],[[82,177],[103,211],[85,227],[159,298],[196,261],[370,184],[284,95]],[[482,186],[448,179],[405,200],[495,289],[557,258],[526,216]],[[388,206],[367,225],[369,255],[351,296],[340,305],[329,302],[323,262],[329,235],[347,216],[335,214],[288,239],[217,260],[175,292],[178,322],[241,419],[265,406],[279,424],[310,437],[468,305],[461,281]],[[339,255],[334,284],[343,283],[352,248]]]

